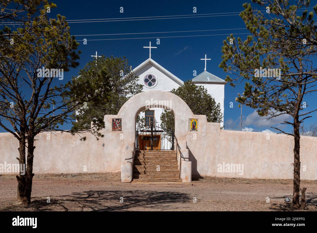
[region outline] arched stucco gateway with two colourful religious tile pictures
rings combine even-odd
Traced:
[[[136,118],[150,108],[165,108],[175,118],[175,161],[178,160],[182,182],[191,182],[191,161],[187,139],[195,138],[201,126],[207,123],[206,116],[195,115],[188,105],[175,94],[166,91],[146,91],[134,95],[120,109],[117,115],[105,115],[106,148],[111,148],[112,158],[120,158],[121,181],[133,179],[133,162],[136,153]],[[170,152],[171,153],[171,152]],[[172,155],[169,155],[172,156]],[[180,157],[182,157],[180,159]],[[181,163],[179,161],[182,161]],[[111,161],[109,161],[111,162]],[[113,162],[118,162],[113,161]],[[163,171],[162,171],[163,172]]]

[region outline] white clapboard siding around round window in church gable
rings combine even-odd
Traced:
[[[159,69],[154,67],[151,63],[135,72],[139,76],[138,83],[143,85],[143,91],[171,91],[173,88],[178,88],[180,85],[172,80],[170,77],[162,73]],[[148,88],[144,85],[143,79],[147,74],[153,74],[157,78],[157,84],[155,87]]]

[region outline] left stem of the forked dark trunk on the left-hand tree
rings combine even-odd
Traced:
[[[19,139],[19,154],[20,158],[16,158],[19,160],[20,166],[25,164],[25,145],[26,145],[26,138],[25,135],[21,136]],[[25,171],[24,171],[25,172]],[[22,201],[25,199],[24,198],[24,190],[25,190],[25,174],[21,174],[19,172],[19,175],[16,176],[16,179],[18,181],[18,186],[17,186],[17,201]]]

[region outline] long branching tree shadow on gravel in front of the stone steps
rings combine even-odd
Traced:
[[[193,197],[186,193],[172,191],[84,191],[74,192],[70,195],[63,195],[51,199],[51,203],[46,200],[36,199],[29,206],[14,205],[4,210],[35,210],[35,211],[128,211],[143,207],[148,210],[169,208],[177,210],[175,204],[190,203]],[[121,202],[122,203],[121,203]],[[189,208],[189,207],[188,207]]]

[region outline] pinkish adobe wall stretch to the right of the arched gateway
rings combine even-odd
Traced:
[[[284,134],[220,130],[207,123],[197,132],[196,143],[188,135],[192,173],[236,178],[293,179],[294,138]],[[203,140],[203,139],[206,140]],[[301,179],[317,179],[317,137],[301,136]],[[240,165],[243,172],[222,171],[223,163]],[[241,173],[239,175],[239,173]],[[242,174],[243,173],[243,174]]]

